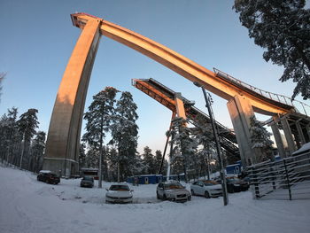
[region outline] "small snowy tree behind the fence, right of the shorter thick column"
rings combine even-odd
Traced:
[[[250,135],[252,148],[259,151],[260,158],[256,158],[257,162],[267,159],[273,159],[272,144],[270,136],[272,135],[264,128],[255,116],[250,118]]]

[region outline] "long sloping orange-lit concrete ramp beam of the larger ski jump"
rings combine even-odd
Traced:
[[[97,17],[85,13],[72,14],[71,17],[74,26],[80,28],[83,28],[88,20],[97,19]],[[266,99],[254,96],[236,85],[225,82],[217,77],[212,71],[203,66],[199,66],[189,58],[185,58],[174,50],[170,50],[166,46],[156,43],[143,35],[130,31],[125,27],[120,27],[119,25],[103,19],[100,30],[102,35],[143,53],[147,57],[167,66],[177,74],[181,74],[191,82],[198,82],[205,87],[205,89],[212,91],[220,97],[229,100],[236,95],[242,95],[248,98],[255,112],[274,115],[275,113],[288,113],[292,109],[292,106],[284,108],[281,103],[269,103]]]

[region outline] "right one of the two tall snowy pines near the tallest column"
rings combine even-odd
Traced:
[[[136,146],[138,126],[136,120],[137,106],[132,95],[128,91],[121,93],[120,100],[117,101],[115,115],[111,126],[113,144],[118,149],[118,161],[120,169],[120,179],[124,180],[126,176],[133,175],[136,168]]]

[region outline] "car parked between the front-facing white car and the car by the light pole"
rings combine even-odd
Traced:
[[[156,196],[159,199],[177,202],[185,202],[191,199],[190,191],[186,190],[185,187],[178,182],[159,183],[156,190]]]

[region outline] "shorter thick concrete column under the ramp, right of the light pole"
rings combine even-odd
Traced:
[[[230,119],[233,123],[240,157],[244,167],[256,163],[257,151],[252,149],[250,135],[250,117],[254,115],[250,101],[242,96],[235,96],[228,104]]]

